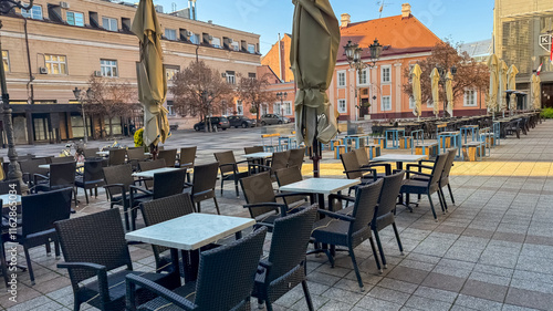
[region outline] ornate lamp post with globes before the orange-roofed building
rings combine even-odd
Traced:
[[[347,62],[349,63],[349,68],[355,69],[358,74],[359,83],[363,77],[363,70],[366,68],[373,69],[376,66],[376,62],[380,59],[383,46],[378,43],[378,39],[375,39],[373,44],[368,46],[368,51],[371,52],[371,60],[368,63],[365,63],[362,60],[363,49],[359,48],[359,44],[352,43],[352,41],[347,41],[347,44],[344,46],[345,54],[347,58]],[[361,86],[358,86],[355,92],[357,93],[357,105],[355,107],[359,110],[362,107],[361,102]],[[355,112],[355,120],[358,118],[358,112]]]

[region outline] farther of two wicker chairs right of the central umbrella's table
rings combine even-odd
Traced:
[[[401,246],[401,240],[399,239],[399,232],[397,231],[396,219],[394,217],[394,211],[396,209],[397,196],[399,195],[399,189],[401,189],[401,184],[404,182],[405,172],[398,172],[394,175],[386,176],[383,178],[384,184],[382,186],[380,196],[378,198],[378,207],[376,208],[373,221],[371,221],[371,229],[375,234],[376,245],[380,251],[382,265],[387,268],[386,256],[384,256],[384,249],[380,242],[380,236],[378,231],[392,225],[394,228],[394,234],[396,236],[397,246],[399,251],[404,255],[404,247]]]

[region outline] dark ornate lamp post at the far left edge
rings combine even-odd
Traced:
[[[7,14],[14,8],[22,10],[30,10],[33,6],[33,0],[29,1],[28,6],[21,3],[21,1],[13,0],[0,0],[0,13]],[[0,21],[0,29],[2,28],[2,22]],[[2,44],[0,42],[0,51],[2,50]],[[10,159],[8,177],[10,180],[18,180],[21,189],[27,190],[27,185],[23,183],[23,175],[21,174],[21,168],[18,163],[18,153],[15,152],[15,138],[13,136],[13,123],[11,120],[12,110],[10,107],[10,95],[8,94],[8,86],[6,83],[6,72],[3,68],[3,61],[0,65],[0,87],[2,89],[2,113],[3,113],[3,128],[8,139],[8,158]]]

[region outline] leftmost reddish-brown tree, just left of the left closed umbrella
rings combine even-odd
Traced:
[[[109,137],[113,137],[113,118],[128,116],[136,111],[136,90],[126,81],[91,75],[91,91],[87,92],[87,114],[108,118]]]

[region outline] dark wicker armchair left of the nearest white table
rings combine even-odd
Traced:
[[[83,302],[100,310],[125,310],[125,277],[128,274],[140,276],[168,288],[176,288],[180,283],[177,273],[133,271],[118,209],[58,221],[55,231],[65,259],[58,268],[69,270],[75,311],[80,310]],[[114,272],[116,269],[118,271]],[[82,284],[92,278],[96,279]],[[138,298],[139,303],[154,298],[142,289],[134,297]]]

